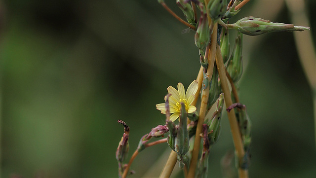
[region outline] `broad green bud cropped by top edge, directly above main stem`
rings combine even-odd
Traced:
[[[207,4],[209,16],[213,23],[226,13],[227,0],[210,0]]]

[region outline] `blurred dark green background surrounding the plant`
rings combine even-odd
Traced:
[[[174,1],[166,3],[183,17]],[[315,42],[316,1],[306,3]],[[245,16],[291,23],[282,0],[252,0],[232,22]],[[117,120],[130,127],[131,155],[164,123],[155,105],[166,88],[196,78],[198,50],[193,32],[181,34],[185,28],[157,0],[0,1],[0,176],[118,177]],[[234,33],[231,41],[232,48]],[[253,124],[250,177],[316,178],[312,92],[293,34],[244,36],[243,43],[239,84]],[[168,156],[165,149],[141,152],[131,178],[150,168],[157,177],[164,161],[153,165]],[[220,159],[233,149],[224,114],[210,178],[222,177]]]

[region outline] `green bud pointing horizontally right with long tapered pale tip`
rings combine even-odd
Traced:
[[[227,24],[227,28],[234,29],[249,36],[256,36],[270,32],[304,31],[310,27],[294,26],[293,24],[274,23],[256,17],[244,17],[235,24]]]

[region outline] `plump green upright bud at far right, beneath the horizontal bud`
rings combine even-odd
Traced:
[[[232,56],[227,63],[227,71],[236,83],[242,74],[242,34],[238,33]]]

